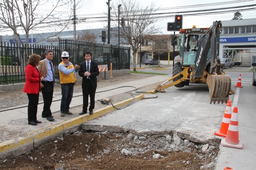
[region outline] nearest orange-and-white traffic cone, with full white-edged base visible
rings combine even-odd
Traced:
[[[228,126],[227,136],[225,139],[221,139],[221,145],[231,148],[243,149],[243,144],[239,141],[237,107],[234,107],[233,109],[233,113],[231,115],[230,123]]]

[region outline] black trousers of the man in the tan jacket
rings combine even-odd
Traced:
[[[42,81],[43,88],[41,89],[43,96],[43,111],[42,118],[52,116],[51,105],[53,98],[53,81]]]

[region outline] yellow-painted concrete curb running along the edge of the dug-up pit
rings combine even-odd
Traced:
[[[130,105],[133,101],[138,101],[144,98],[144,95],[138,95],[134,98],[127,99],[125,101],[114,104],[114,107],[122,108]],[[0,143],[0,159],[5,159],[6,157],[14,157],[31,151],[39,146],[52,141],[58,136],[63,136],[65,134],[74,133],[81,129],[82,123],[90,121],[92,119],[101,117],[113,110],[116,110],[112,105],[96,110],[94,114],[84,114],[77,118],[73,118],[61,123],[57,123],[40,130],[28,133],[24,137],[18,137],[3,143]]]

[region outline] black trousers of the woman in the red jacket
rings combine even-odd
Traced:
[[[37,105],[39,101],[39,93],[38,94],[30,94],[28,95],[28,121],[37,120]]]

